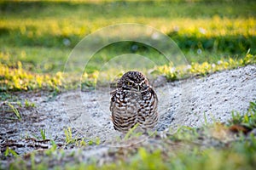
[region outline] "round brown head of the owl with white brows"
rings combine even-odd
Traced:
[[[119,79],[118,88],[143,92],[148,90],[149,82],[143,73],[139,71],[128,71]]]

